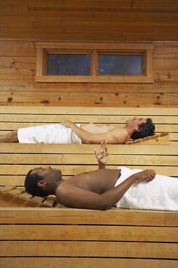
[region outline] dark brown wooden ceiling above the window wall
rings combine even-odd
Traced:
[[[178,40],[178,0],[1,0],[1,39]]]

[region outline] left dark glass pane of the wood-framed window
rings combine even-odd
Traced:
[[[48,54],[47,75],[90,76],[90,54]]]

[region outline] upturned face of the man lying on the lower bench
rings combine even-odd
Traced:
[[[56,170],[50,166],[46,168],[35,168],[32,170],[31,174],[37,173],[39,176],[43,176],[46,181],[52,182],[61,179],[61,170]]]

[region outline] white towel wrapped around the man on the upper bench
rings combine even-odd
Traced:
[[[80,124],[76,124],[80,127]],[[18,129],[19,143],[79,143],[81,139],[61,124],[42,125]]]

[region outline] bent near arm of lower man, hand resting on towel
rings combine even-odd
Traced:
[[[61,183],[56,190],[57,200],[71,208],[91,209],[91,210],[108,210],[114,206],[125,194],[125,192],[134,184],[148,178],[151,181],[155,178],[155,171],[146,170],[138,172],[128,177],[120,185],[98,194],[77,187],[71,183]]]

